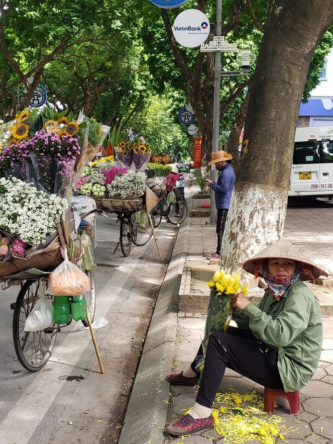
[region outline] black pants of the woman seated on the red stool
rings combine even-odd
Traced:
[[[197,356],[203,354],[202,345]],[[250,330],[229,327],[227,332],[217,331],[209,337],[206,358],[196,402],[210,408],[226,367],[264,387],[283,389],[277,367],[277,350],[258,342]],[[196,361],[191,364],[195,370]]]

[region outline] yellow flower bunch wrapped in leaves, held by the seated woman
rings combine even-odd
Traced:
[[[238,273],[232,275],[225,270],[217,270],[211,281],[206,282],[210,288],[210,295],[207,308],[206,324],[203,337],[203,357],[198,359],[197,369],[202,370],[204,358],[207,350],[209,336],[216,331],[227,331],[232,318],[230,307],[231,299],[240,291],[246,295],[247,287],[242,285],[241,276]]]

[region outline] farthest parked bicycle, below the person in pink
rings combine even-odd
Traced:
[[[169,193],[166,191],[160,197],[159,203],[153,209],[154,226],[158,227],[164,216],[167,222],[173,225],[178,225],[184,222],[187,217],[188,208],[185,201],[183,187],[174,187],[173,192],[176,196],[176,202],[170,202],[168,199]]]

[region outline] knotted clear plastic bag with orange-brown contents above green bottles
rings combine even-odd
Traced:
[[[61,247],[61,254],[64,261],[50,273],[49,290],[52,294],[60,296],[79,296],[89,292],[90,280],[88,276],[68,260],[65,247]]]

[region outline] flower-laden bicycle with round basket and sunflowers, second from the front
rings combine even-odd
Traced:
[[[104,157],[87,165],[75,182],[75,190],[94,199],[100,210],[117,214],[120,239],[114,254],[120,245],[123,255],[128,256],[132,243],[145,245],[154,235],[162,261],[151,214],[158,198],[146,186],[143,172],[151,157],[151,148],[141,139],[120,142],[116,147],[117,162]]]

